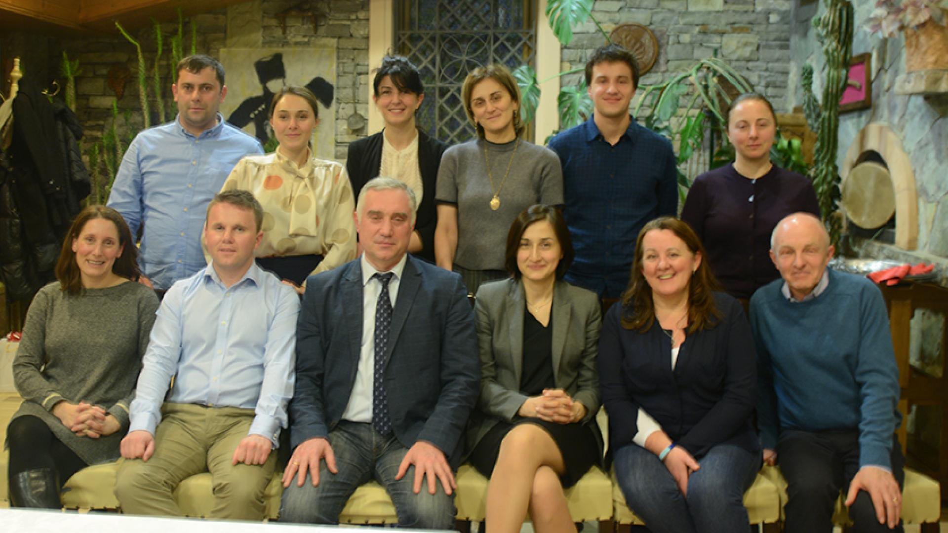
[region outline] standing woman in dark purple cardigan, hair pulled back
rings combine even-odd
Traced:
[[[770,101],[757,93],[735,99],[727,114],[734,162],[698,176],[682,209],[720,284],[745,309],[757,288],[780,277],[769,254],[776,223],[798,211],[820,215],[810,179],[771,163],[775,134]]]

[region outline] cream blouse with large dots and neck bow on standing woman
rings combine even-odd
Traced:
[[[299,166],[279,149],[246,156],[221,191],[234,189],[253,193],[264,208],[257,257],[321,255],[314,274],[356,258],[356,202],[341,164],[309,156]]]

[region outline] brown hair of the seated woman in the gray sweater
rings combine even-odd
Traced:
[[[88,206],[76,215],[72,221],[72,226],[65,234],[63,239],[63,249],[60,251],[59,261],[56,262],[56,279],[59,280],[60,289],[72,295],[82,294],[82,271],[76,264],[76,252],[72,251],[72,242],[79,238],[82,229],[90,220],[102,218],[115,224],[118,232],[118,246],[122,247],[121,255],[116,258],[112,264],[112,273],[121,276],[127,280],[137,282],[141,277],[141,271],[138,270],[138,248],[135,246],[135,240],[132,238],[132,231],[125,224],[125,219],[118,214],[118,211],[105,206]]]

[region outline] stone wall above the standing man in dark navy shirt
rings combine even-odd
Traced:
[[[641,83],[660,83],[717,50],[719,58],[783,112],[788,109],[791,5],[791,0],[597,0],[593,17],[607,32],[637,23],[655,33],[658,61]],[[570,46],[563,47],[562,69],[582,66],[602,44],[595,25],[587,23],[575,32]],[[564,83],[577,83],[580,76]]]

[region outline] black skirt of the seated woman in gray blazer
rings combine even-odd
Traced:
[[[595,418],[589,422],[595,423]],[[521,416],[517,416],[513,422],[501,420],[487,431],[474,450],[471,450],[468,462],[489,479],[494,472],[494,465],[497,464],[503,437],[520,424],[535,424],[553,437],[556,447],[563,454],[563,464],[566,465],[566,471],[559,476],[564,488],[573,487],[590,467],[600,463],[599,447],[593,430],[587,427],[587,424],[557,424]]]

